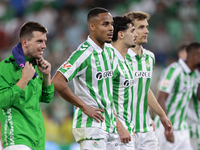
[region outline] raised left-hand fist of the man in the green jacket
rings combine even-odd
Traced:
[[[27,80],[31,80],[33,75],[35,74],[35,69],[28,61],[25,63],[24,68],[22,69],[22,78]]]

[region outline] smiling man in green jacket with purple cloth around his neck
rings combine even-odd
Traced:
[[[0,63],[0,120],[4,150],[44,150],[45,129],[40,102],[54,95],[51,64],[42,54],[47,29],[26,22],[19,32],[20,42]]]

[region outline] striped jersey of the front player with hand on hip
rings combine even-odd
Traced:
[[[98,123],[76,109],[73,128],[97,127],[115,132],[113,116],[113,51],[102,50],[90,37],[58,69],[68,81],[73,79],[75,94],[87,105],[100,108],[105,121]]]

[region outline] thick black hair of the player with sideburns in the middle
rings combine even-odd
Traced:
[[[133,22],[130,18],[126,16],[113,17],[113,21],[114,21],[113,23],[114,31],[113,31],[112,41],[115,42],[118,39],[118,32],[126,31],[129,28],[128,24],[133,25]]]

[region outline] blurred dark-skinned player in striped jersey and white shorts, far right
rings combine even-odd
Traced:
[[[155,132],[162,150],[190,149],[187,110],[194,87],[198,83],[194,70],[200,64],[199,58],[200,43],[191,43],[187,47],[186,60],[180,58],[178,62],[168,66],[161,75],[157,99],[173,126],[173,132],[164,135],[160,120],[155,118]]]

